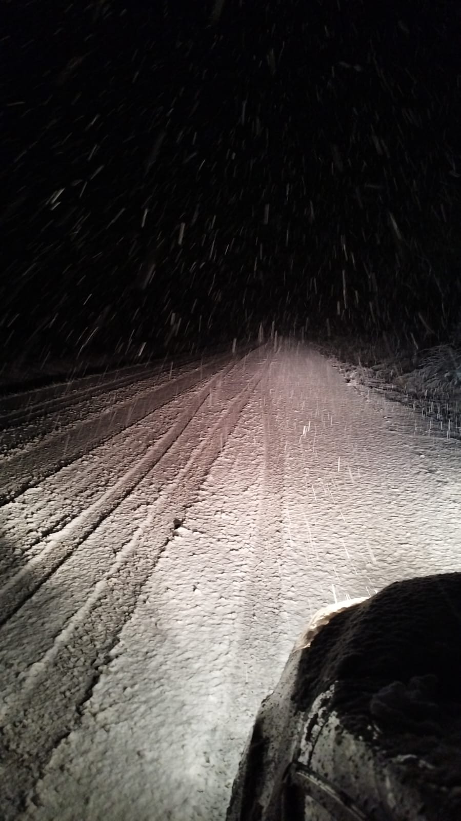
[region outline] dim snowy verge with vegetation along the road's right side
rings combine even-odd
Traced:
[[[427,417],[434,433],[461,439],[459,346],[393,353],[383,344],[374,346],[353,339],[312,344],[355,388],[372,388]]]

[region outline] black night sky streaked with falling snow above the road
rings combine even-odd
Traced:
[[[7,358],[189,351],[259,323],[454,337],[459,2],[2,16]]]

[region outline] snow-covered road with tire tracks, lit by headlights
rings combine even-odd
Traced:
[[[460,443],[308,348],[2,401],[0,817],[220,821],[309,617],[461,570]]]

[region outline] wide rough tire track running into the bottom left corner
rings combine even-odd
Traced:
[[[26,793],[37,782],[52,750],[78,722],[83,705],[110,663],[117,637],[142,595],[146,580],[171,540],[171,511],[181,518],[193,504],[212,462],[262,379],[267,362],[255,365],[243,389],[235,391],[242,383],[241,368],[235,366],[223,381],[219,405],[205,401],[195,411],[187,433],[176,438],[164,457],[164,461],[169,460],[166,473],[172,472],[175,478],[164,485],[135,534],[43,658],[16,679],[11,701],[3,700],[0,759],[5,762],[5,788],[0,794],[0,812],[4,821],[13,821],[18,811],[25,809]],[[185,436],[196,444],[178,470],[178,456],[184,447],[181,438]]]

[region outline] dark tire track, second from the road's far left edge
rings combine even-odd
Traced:
[[[72,425],[71,429],[64,429],[45,438],[42,443],[31,447],[30,450],[5,458],[0,479],[0,504],[11,501],[57,469],[71,464],[91,447],[107,441],[121,430],[135,424],[148,413],[176,397],[178,393],[193,388],[203,378],[212,375],[215,369],[216,361],[203,367],[199,366],[192,371],[194,375],[188,372],[153,388],[145,397],[127,399],[120,406],[108,408],[99,417],[98,428],[95,426],[95,420],[89,417],[80,424]],[[103,426],[106,418],[107,424]]]

